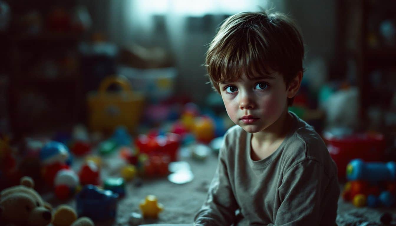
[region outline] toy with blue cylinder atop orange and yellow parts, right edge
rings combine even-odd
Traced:
[[[396,197],[396,163],[354,159],[346,167],[342,197],[356,207],[392,207]]]

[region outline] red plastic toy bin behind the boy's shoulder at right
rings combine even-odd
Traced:
[[[356,158],[364,161],[384,161],[386,142],[379,133],[354,133],[345,136],[324,134],[331,158],[338,168],[340,181],[346,180],[346,165]]]

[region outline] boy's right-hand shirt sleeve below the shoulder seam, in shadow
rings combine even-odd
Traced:
[[[305,160],[293,165],[279,188],[282,204],[274,224],[328,225],[335,224],[339,185],[337,175],[329,178],[317,161]]]

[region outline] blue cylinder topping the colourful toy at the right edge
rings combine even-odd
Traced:
[[[369,182],[396,180],[396,163],[369,162],[354,159],[346,166],[348,180],[366,180]]]

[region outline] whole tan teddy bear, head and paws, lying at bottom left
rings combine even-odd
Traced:
[[[21,185],[0,192],[0,226],[94,226],[88,217],[77,219],[74,209],[60,205],[52,214],[51,204],[43,201],[33,189],[30,177],[22,177]]]

